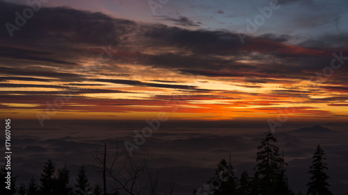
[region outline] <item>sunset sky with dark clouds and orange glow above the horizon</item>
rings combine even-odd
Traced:
[[[28,2],[0,1],[1,117],[347,121],[347,1]]]

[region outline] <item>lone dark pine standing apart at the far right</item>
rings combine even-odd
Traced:
[[[326,175],[324,172],[325,169],[328,169],[326,167],[326,163],[324,160],[326,158],[324,157],[325,153],[324,150],[320,147],[320,145],[317,146],[317,149],[315,150],[315,153],[313,155],[313,164],[310,166],[310,181],[308,182],[308,191],[307,194],[310,195],[331,195],[332,192],[329,190],[329,183],[326,181],[330,177]]]

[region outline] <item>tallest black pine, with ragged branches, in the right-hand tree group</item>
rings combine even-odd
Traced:
[[[285,173],[283,165],[287,165],[280,157],[279,148],[274,143],[278,142],[276,137],[268,133],[258,146],[256,161],[258,164],[254,168],[256,178],[254,189],[259,189],[262,195],[291,194],[285,183]]]

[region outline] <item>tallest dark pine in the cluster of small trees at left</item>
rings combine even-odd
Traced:
[[[52,194],[54,188],[54,171],[56,171],[56,168],[54,167],[52,160],[49,159],[45,162],[45,167],[41,173],[40,194]]]

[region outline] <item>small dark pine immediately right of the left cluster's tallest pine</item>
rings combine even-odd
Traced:
[[[69,187],[70,183],[70,171],[67,167],[58,169],[58,175],[55,182],[54,194],[57,195],[70,195],[72,194],[72,188]]]

